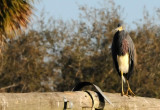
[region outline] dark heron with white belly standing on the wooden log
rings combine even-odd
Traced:
[[[121,77],[121,95],[129,96],[128,93],[130,93],[132,96],[135,96],[130,88],[128,80],[133,74],[134,67],[136,65],[136,49],[131,37],[124,30],[124,27],[121,24],[118,24],[115,30],[116,33],[113,37],[111,50],[115,68]],[[126,82],[128,86],[126,94],[123,90],[123,82]]]

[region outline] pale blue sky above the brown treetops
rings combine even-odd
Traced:
[[[65,21],[78,19],[79,5],[101,8],[100,4],[104,0],[39,0],[34,4],[36,16],[40,16],[42,10],[47,17],[63,19]],[[124,12],[122,18],[129,27],[135,27],[133,21],[143,18],[144,7],[150,15],[156,15],[156,9],[160,8],[160,0],[114,0],[115,4],[120,5]],[[157,21],[158,22],[158,21]]]

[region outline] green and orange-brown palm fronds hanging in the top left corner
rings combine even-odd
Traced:
[[[0,0],[0,45],[27,27],[33,0]]]

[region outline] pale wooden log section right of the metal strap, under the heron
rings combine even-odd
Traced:
[[[105,93],[114,104],[114,109],[122,110],[160,110],[160,99],[147,97],[121,96],[120,93]],[[108,105],[108,104],[107,104]],[[107,107],[107,105],[105,107]],[[111,106],[108,105],[110,108]],[[113,109],[112,107],[110,109]]]

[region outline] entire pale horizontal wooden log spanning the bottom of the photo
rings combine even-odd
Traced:
[[[160,99],[104,93],[114,106],[93,91],[0,93],[0,110],[146,110],[160,109]]]

